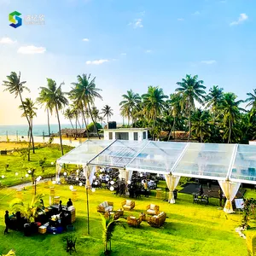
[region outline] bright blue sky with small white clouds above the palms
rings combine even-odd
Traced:
[[[198,74],[207,90],[218,84],[244,99],[255,88],[253,2],[0,0],[0,80],[20,71],[32,90],[26,96],[35,98],[46,78],[64,81],[67,91],[78,74],[91,73],[102,89],[97,107],[112,106],[118,121],[126,90],[142,94],[148,85],[159,85],[169,95],[186,73]],[[16,29],[8,20],[15,10],[23,18]],[[45,24],[26,25],[26,15],[44,15]],[[26,123],[19,104],[0,90],[0,124]],[[35,123],[45,121],[40,109]]]

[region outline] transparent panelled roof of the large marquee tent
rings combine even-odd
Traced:
[[[256,184],[256,145],[87,140],[63,163]]]

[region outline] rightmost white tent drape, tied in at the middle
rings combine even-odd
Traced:
[[[218,180],[218,183],[224,193],[224,196],[227,199],[224,206],[224,212],[226,213],[234,212],[232,207],[232,201],[235,198],[241,183],[233,183],[230,181],[220,181],[220,180]]]

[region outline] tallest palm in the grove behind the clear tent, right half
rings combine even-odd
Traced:
[[[191,75],[186,75],[185,79],[182,79],[182,82],[177,82],[178,87],[176,91],[183,96],[183,102],[185,105],[185,109],[189,113],[189,136],[191,135],[191,111],[195,109],[195,101],[199,103],[203,103],[206,94],[206,86],[203,85],[202,80],[198,80],[198,76],[195,75],[192,77]]]

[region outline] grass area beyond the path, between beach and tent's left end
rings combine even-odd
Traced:
[[[71,147],[63,147],[64,153],[67,153],[71,149]],[[42,168],[39,166],[39,160],[43,160],[44,157],[46,158],[46,164],[43,173]],[[29,182],[31,178],[26,178],[25,174],[30,168],[36,169],[37,176],[47,177],[49,174],[55,174],[55,160],[60,157],[60,145],[51,145],[50,147],[36,149],[36,154],[32,154],[31,152],[31,161],[27,161],[27,158],[23,160],[17,152],[14,154],[0,155],[0,182],[5,186]],[[54,162],[53,166],[51,162]],[[7,170],[6,165],[9,165]],[[18,172],[18,176],[15,176],[15,172]],[[2,178],[2,175],[4,175],[4,178]]]

